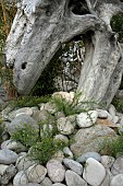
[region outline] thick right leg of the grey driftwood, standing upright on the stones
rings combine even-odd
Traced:
[[[91,37],[94,44],[93,40],[85,40],[88,53],[82,68],[78,91],[82,92],[82,101],[91,98],[108,106],[121,83],[121,47],[116,45],[115,35],[108,32],[97,31]]]

